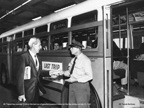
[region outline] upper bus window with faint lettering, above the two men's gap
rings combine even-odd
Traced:
[[[68,23],[67,19],[51,23],[50,31],[61,29],[61,28],[67,28],[67,23]]]

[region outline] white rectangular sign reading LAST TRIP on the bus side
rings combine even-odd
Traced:
[[[42,61],[42,70],[62,70],[62,63]]]

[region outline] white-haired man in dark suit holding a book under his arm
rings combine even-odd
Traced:
[[[39,53],[42,46],[40,39],[35,37],[29,40],[28,45],[30,49],[20,56],[18,64],[18,100],[28,103],[37,103],[40,90],[44,90],[39,83],[40,62],[37,57],[37,53]],[[26,74],[29,74],[29,78],[26,77]],[[32,107],[37,106],[32,105]]]

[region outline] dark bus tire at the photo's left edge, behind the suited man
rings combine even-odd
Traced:
[[[7,71],[6,71],[6,67],[4,64],[1,65],[1,84],[2,86],[6,86],[7,85]]]

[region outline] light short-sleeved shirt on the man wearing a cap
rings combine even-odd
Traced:
[[[73,65],[74,58],[69,63],[70,69]],[[78,82],[85,83],[92,80],[92,67],[90,59],[81,53],[77,56],[71,78],[76,78]]]

